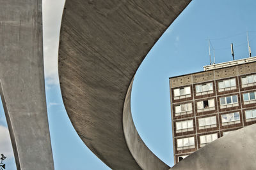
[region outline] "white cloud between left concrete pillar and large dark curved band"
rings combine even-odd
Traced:
[[[64,0],[43,0],[44,69],[46,83],[57,85],[58,45]]]

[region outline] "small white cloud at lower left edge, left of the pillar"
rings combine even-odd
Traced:
[[[12,143],[7,127],[0,125],[0,154],[3,153],[8,159],[13,158]]]

